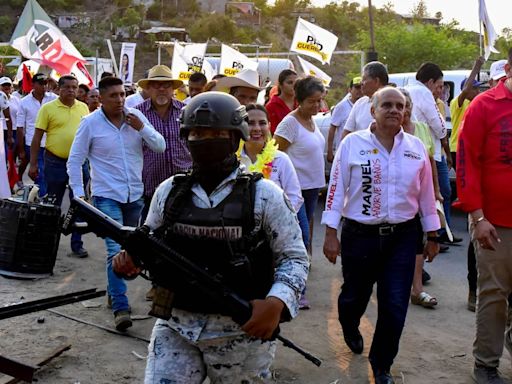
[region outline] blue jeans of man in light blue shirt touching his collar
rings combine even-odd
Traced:
[[[101,212],[123,225],[136,227],[140,213],[144,207],[144,199],[140,198],[131,203],[120,203],[106,197],[93,196],[93,203]],[[126,283],[117,276],[112,269],[112,259],[121,250],[121,246],[110,238],[105,238],[107,246],[107,290],[112,298],[112,311],[127,311],[128,297],[126,296]]]

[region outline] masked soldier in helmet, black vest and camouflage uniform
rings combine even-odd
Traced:
[[[220,274],[252,304],[242,326],[196,292],[177,289],[172,314],[153,328],[146,384],[267,383],[280,321],[298,313],[309,263],[295,211],[271,181],[247,175],[236,150],[247,139],[245,107],[232,96],[194,97],[181,117],[193,159],[191,176],[173,176],[156,190],[146,225],[198,265]],[[249,268],[236,269],[235,255]],[[234,266],[236,265],[236,267]],[[115,270],[139,270],[126,253]],[[249,272],[247,272],[249,271]],[[262,341],[265,340],[265,341]]]

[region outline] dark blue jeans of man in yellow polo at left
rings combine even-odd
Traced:
[[[89,166],[84,163],[82,167],[84,185],[89,182]],[[61,206],[66,187],[68,185],[68,172],[66,160],[59,159],[45,152],[44,154],[44,178],[46,180],[46,192],[48,196],[55,196],[55,205]],[[69,198],[73,198],[73,191],[69,189]],[[83,248],[82,235],[77,232],[71,233],[71,250],[77,252]]]

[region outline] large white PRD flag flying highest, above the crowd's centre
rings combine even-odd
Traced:
[[[337,43],[336,35],[299,17],[290,51],[313,57],[322,64],[329,64]]]

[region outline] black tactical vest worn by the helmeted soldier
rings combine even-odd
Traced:
[[[192,202],[192,177],[174,176],[165,203],[164,225],[156,232],[173,249],[248,301],[264,299],[274,280],[272,250],[263,230],[254,230],[254,196],[260,178],[261,174],[240,175],[232,192],[215,208],[198,208]],[[172,278],[176,283],[172,285],[178,288],[180,277]],[[193,289],[176,289],[173,307],[225,314]]]

